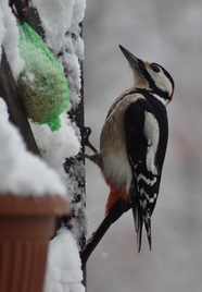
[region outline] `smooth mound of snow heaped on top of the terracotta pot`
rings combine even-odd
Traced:
[[[8,117],[5,102],[0,98],[0,194],[65,196],[66,188],[59,174],[26,150],[18,130]]]

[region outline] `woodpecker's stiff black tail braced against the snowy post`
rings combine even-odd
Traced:
[[[114,223],[125,211],[130,209],[131,206],[129,204],[124,203],[122,199],[117,200],[116,204],[110,209],[110,211],[104,217],[101,224],[98,227],[98,229],[91,234],[87,243],[85,244],[83,251],[80,252],[80,259],[83,269],[85,268],[85,265],[93,252],[93,250],[97,247],[103,235],[106,233],[112,223]]]

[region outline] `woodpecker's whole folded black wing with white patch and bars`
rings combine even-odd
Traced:
[[[144,98],[131,102],[125,111],[124,127],[132,183],[129,200],[137,231],[138,251],[141,248],[144,222],[151,248],[151,215],[157,199],[161,172],[167,145],[167,118]],[[162,135],[163,131],[163,135]]]

